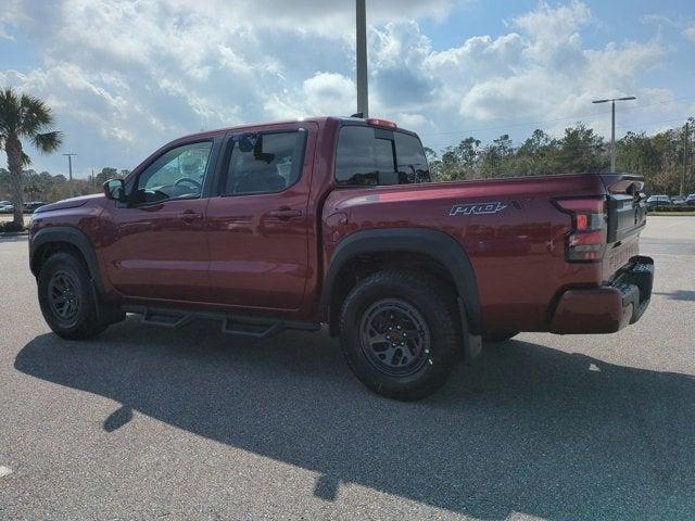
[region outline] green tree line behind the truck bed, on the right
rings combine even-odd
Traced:
[[[616,170],[644,176],[647,193],[678,194],[682,179],[684,193],[694,193],[695,118],[687,122],[690,134],[685,125],[650,136],[628,132],[616,141]],[[535,129],[519,143],[506,134],[486,145],[468,137],[440,153],[429,148],[426,153],[432,177],[443,181],[610,170],[610,142],[582,123],[560,138]]]

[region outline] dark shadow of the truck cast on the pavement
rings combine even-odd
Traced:
[[[135,410],[317,471],[307,494],[326,500],[356,483],[483,519],[695,517],[691,376],[509,341],[405,404],[366,391],[325,333],[255,343],[213,328],[43,334],[15,368],[123,404],[109,432]]]

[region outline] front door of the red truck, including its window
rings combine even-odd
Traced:
[[[109,280],[123,295],[208,301],[210,199],[203,188],[213,144],[206,140],[163,152],[138,175],[127,205],[108,206],[102,251]]]

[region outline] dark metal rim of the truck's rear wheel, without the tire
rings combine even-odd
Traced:
[[[381,372],[407,377],[429,360],[430,330],[422,315],[399,298],[369,306],[359,322],[362,350]]]

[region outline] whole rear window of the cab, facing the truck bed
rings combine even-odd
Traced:
[[[338,137],[336,182],[343,187],[408,185],[430,180],[419,139],[366,126],[344,126]]]

